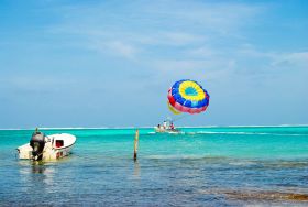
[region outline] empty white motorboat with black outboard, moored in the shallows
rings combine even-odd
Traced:
[[[30,143],[19,146],[19,159],[52,161],[70,154],[76,137],[68,133],[45,135],[40,131],[32,134]]]

